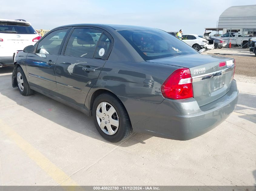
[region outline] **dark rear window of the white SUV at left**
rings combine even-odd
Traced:
[[[36,34],[32,26],[0,25],[0,33]]]

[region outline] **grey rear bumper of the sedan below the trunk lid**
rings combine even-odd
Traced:
[[[122,99],[131,119],[133,130],[152,136],[175,140],[198,137],[222,123],[234,111],[238,101],[236,81],[223,97],[199,107],[194,98],[165,99],[160,104],[129,103]],[[143,109],[142,109],[143,108]]]

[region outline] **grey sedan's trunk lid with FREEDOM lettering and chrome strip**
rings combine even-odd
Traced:
[[[189,68],[193,79],[194,99],[199,106],[224,96],[231,87],[234,75],[234,60],[218,56],[192,54],[148,62]]]

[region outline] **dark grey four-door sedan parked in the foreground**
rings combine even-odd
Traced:
[[[133,132],[189,140],[218,126],[238,101],[234,59],[201,55],[147,27],[57,27],[14,64],[12,86],[22,95],[37,91],[92,116],[110,142]]]

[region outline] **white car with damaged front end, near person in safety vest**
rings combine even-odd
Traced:
[[[208,40],[199,37],[197,34],[183,34],[182,37],[182,40],[196,51],[199,51],[202,48],[214,49],[214,46],[209,46]]]

